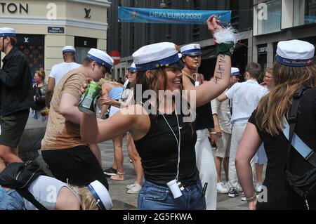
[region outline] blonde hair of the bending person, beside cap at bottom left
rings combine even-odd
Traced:
[[[98,202],[93,197],[90,190],[88,190],[88,187],[68,185],[80,197],[80,210],[99,210]]]

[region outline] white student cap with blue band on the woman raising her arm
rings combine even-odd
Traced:
[[[179,46],[170,42],[150,44],[133,53],[133,60],[138,71],[154,70],[158,67],[177,67],[180,58]]]

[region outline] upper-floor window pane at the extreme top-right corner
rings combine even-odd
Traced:
[[[294,26],[316,22],[316,0],[294,0]]]

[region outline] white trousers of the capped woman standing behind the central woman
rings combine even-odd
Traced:
[[[206,188],[206,209],[216,210],[216,166],[209,142],[209,130],[203,129],[197,131],[197,143],[195,144],[195,155],[197,157],[197,169],[199,169],[199,178],[202,186],[207,183]]]

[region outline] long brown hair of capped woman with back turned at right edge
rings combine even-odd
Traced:
[[[258,104],[256,122],[261,130],[277,136],[282,131],[283,117],[291,105],[294,92],[302,86],[314,86],[316,67],[291,67],[275,62],[273,78],[275,88]]]

